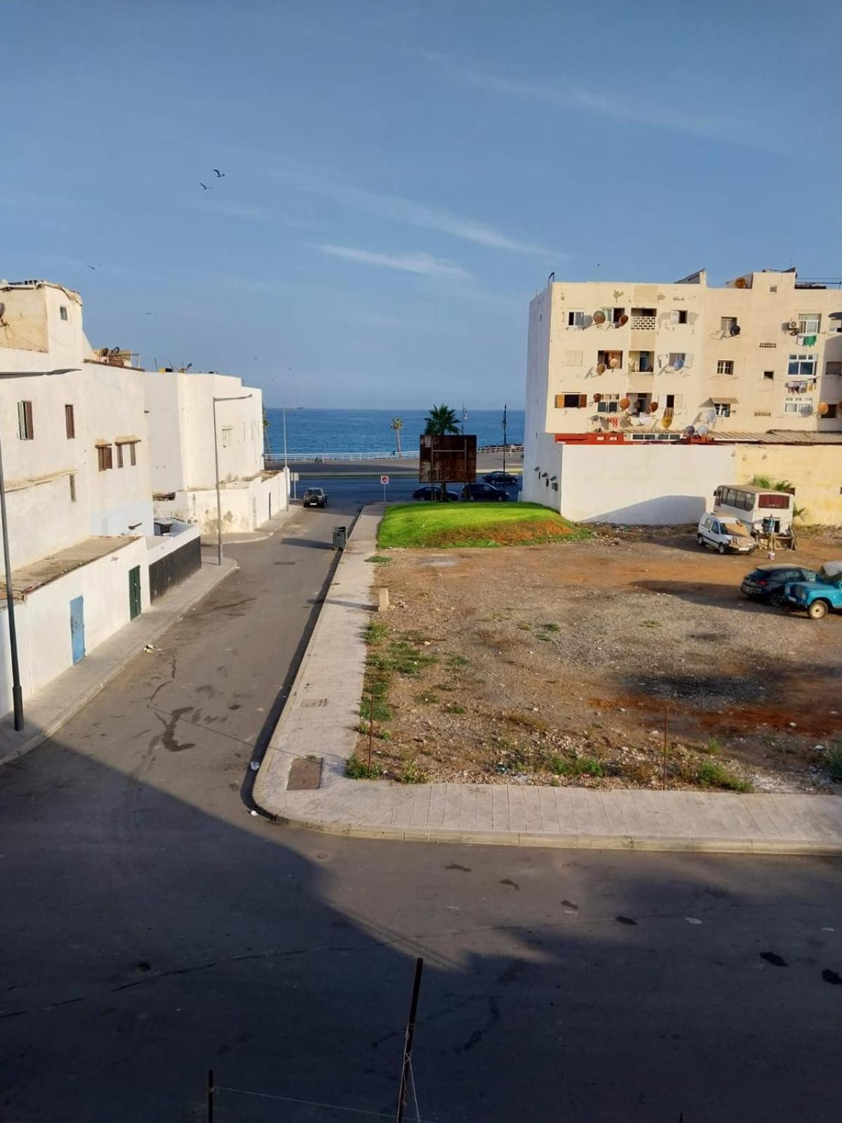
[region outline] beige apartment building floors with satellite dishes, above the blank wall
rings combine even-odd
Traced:
[[[689,426],[842,431],[842,292],[795,270],[708,287],[553,282],[530,304],[527,444]],[[552,439],[552,437],[550,437]]]

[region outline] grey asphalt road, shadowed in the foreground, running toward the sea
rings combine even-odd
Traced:
[[[253,818],[337,515],[0,772],[0,1120],[839,1117],[842,865],[378,843]],[[245,792],[244,792],[245,785]],[[272,1098],[272,1097],[289,1097]],[[414,1119],[412,1111],[408,1120]]]

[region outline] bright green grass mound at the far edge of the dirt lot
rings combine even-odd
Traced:
[[[591,531],[538,503],[402,503],[379,526],[383,547],[529,546],[577,541]]]

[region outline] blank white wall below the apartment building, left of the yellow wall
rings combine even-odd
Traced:
[[[560,511],[574,522],[695,522],[734,478],[733,445],[558,445]]]

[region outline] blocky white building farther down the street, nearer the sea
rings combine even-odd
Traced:
[[[155,513],[217,531],[249,531],[286,510],[286,473],[263,465],[263,393],[231,375],[146,372]],[[216,399],[216,456],[214,456]]]

